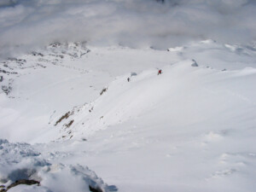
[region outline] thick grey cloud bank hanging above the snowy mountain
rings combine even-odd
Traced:
[[[55,41],[166,49],[256,38],[255,0],[2,0],[0,56]]]

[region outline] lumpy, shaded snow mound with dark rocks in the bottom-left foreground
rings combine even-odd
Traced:
[[[25,184],[9,188],[20,180],[35,180],[38,186]],[[88,167],[50,164],[26,143],[0,140],[0,185],[8,191],[96,191],[107,192],[108,185]]]

